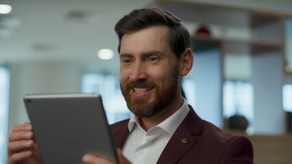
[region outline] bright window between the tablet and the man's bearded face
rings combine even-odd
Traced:
[[[130,118],[131,112],[119,87],[119,76],[86,73],[82,77],[82,92],[101,94],[109,124]]]

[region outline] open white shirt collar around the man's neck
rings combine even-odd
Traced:
[[[184,118],[188,114],[188,111],[190,110],[188,108],[186,99],[183,98],[183,101],[184,101],[184,104],[182,105],[182,107],[180,107],[180,109],[178,109],[178,111],[175,111],[173,115],[171,115],[169,118],[167,118],[166,120],[164,120],[163,122],[161,122],[160,124],[154,127],[160,127],[164,131],[169,133],[169,135],[173,135],[175,130],[178,128],[178,126],[180,126],[180,123],[182,122],[182,120],[184,120]],[[136,117],[136,115],[132,115],[129,123],[127,124],[127,128],[129,129],[130,133],[133,131],[135,125],[140,127],[140,122],[138,118]]]

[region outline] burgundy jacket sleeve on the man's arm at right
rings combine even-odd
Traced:
[[[254,150],[247,137],[235,136],[223,153],[220,164],[250,164],[254,163]]]

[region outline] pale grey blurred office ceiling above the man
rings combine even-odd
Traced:
[[[292,13],[291,0],[189,1]],[[0,14],[0,62],[69,61],[118,70],[115,23],[135,8],[154,5],[155,0],[0,0],[0,3],[12,5],[10,14]],[[97,58],[99,49],[112,49],[114,58],[106,61]]]

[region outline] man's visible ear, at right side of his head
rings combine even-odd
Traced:
[[[185,49],[180,56],[180,75],[182,77],[186,76],[188,72],[193,68],[193,51],[189,48]]]

